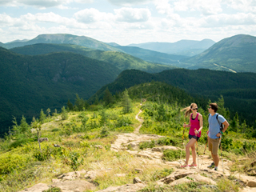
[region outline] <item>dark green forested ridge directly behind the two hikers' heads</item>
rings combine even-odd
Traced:
[[[122,91],[130,86],[152,80],[178,86],[197,97],[203,96],[217,100],[223,95],[225,106],[230,109],[232,117],[238,111],[243,120],[246,120],[251,126],[256,126],[254,122],[256,76],[254,73],[234,74],[215,70],[175,69],[165,70],[158,74],[146,74],[138,70],[126,70],[114,82],[103,86],[96,94],[100,98],[106,87],[112,94],[115,94],[116,91]],[[242,94],[243,92],[246,94]],[[94,97],[90,98],[90,101],[93,101]]]

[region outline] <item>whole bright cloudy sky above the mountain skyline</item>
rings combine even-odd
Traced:
[[[0,42],[74,34],[122,46],[256,36],[256,0],[0,0]]]

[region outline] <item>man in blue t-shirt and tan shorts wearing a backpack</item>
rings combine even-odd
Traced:
[[[207,131],[208,134],[208,147],[209,151],[211,152],[211,156],[214,160],[214,162],[208,166],[209,168],[213,168],[214,170],[218,170],[218,145],[221,140],[221,135],[226,131],[227,127],[230,126],[230,124],[226,121],[226,119],[220,115],[217,114],[218,105],[216,103],[210,103],[209,107],[209,130]],[[217,118],[218,115],[218,118]],[[221,124],[224,125],[223,130],[220,130]]]

